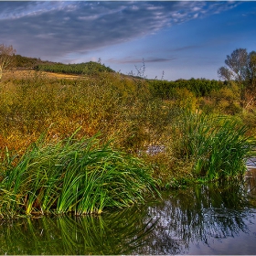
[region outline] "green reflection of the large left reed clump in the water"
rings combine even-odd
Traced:
[[[0,254],[129,254],[155,227],[145,213],[132,208],[102,217],[22,219],[1,229]]]

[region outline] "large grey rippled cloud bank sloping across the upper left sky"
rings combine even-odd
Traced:
[[[0,2],[1,43],[17,53],[67,59],[72,53],[131,41],[237,2]],[[129,60],[127,60],[129,61]],[[151,59],[151,61],[160,61]],[[163,59],[165,61],[165,59]]]

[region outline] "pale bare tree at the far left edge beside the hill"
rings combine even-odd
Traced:
[[[16,49],[13,46],[0,45],[0,80],[4,70],[9,70],[14,67]]]

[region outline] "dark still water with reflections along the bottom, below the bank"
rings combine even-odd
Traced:
[[[256,254],[256,169],[101,217],[0,221],[0,254]]]

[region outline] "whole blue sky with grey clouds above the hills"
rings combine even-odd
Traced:
[[[256,1],[0,0],[0,44],[148,79],[219,80],[233,50],[256,50]]]

